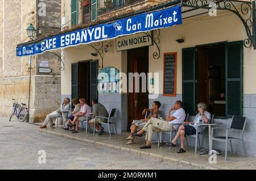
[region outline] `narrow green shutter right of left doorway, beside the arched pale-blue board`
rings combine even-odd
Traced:
[[[98,61],[90,62],[90,103],[93,98],[98,99]]]

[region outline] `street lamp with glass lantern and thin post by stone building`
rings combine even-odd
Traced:
[[[27,27],[27,36],[30,37],[31,40],[33,40],[33,37],[36,35],[36,30],[32,23],[30,23],[30,26]],[[28,87],[28,110],[27,110],[27,116],[26,116],[26,123],[29,123],[30,120],[30,85],[31,85],[31,60],[32,56],[30,56],[30,68],[28,71],[30,71],[30,83]]]

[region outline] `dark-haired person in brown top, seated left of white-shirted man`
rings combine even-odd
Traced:
[[[159,101],[153,102],[151,110],[144,109],[142,112],[142,115],[144,115],[147,111],[150,111],[150,114],[147,116],[146,119],[133,120],[133,123],[131,124],[131,134],[129,135],[129,137],[126,138],[126,140],[129,140],[128,142],[126,142],[126,145],[134,144],[134,136],[132,134],[142,129],[151,117],[158,118],[160,106],[161,103]]]

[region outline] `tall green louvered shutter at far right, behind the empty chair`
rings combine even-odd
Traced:
[[[243,110],[243,43],[226,43],[226,116],[242,116]]]

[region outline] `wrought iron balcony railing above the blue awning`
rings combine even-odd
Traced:
[[[122,7],[133,5],[141,1],[144,0],[98,0],[98,15],[121,9]]]

